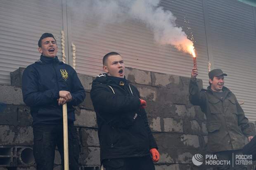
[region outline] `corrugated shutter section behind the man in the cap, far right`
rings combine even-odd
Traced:
[[[208,1],[215,68],[228,74],[225,85],[235,93],[250,121],[256,121],[256,28],[254,7],[236,0]]]

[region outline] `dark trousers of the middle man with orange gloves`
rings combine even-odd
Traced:
[[[155,170],[151,156],[114,158],[103,161],[106,170]]]

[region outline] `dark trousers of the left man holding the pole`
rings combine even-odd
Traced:
[[[79,170],[78,135],[73,124],[69,124],[69,169]],[[63,125],[36,125],[33,126],[34,145],[33,154],[37,170],[52,170],[55,158],[55,148],[58,147],[59,154],[64,165],[63,151]],[[64,169],[64,168],[63,168]]]

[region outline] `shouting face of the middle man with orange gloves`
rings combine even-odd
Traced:
[[[103,70],[110,76],[124,78],[125,66],[122,57],[119,55],[109,56]]]

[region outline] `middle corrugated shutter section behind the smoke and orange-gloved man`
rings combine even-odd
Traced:
[[[208,57],[201,0],[162,0],[160,6],[171,10],[177,17],[178,26],[183,26],[186,33],[194,35],[199,78],[208,82]],[[98,75],[102,72],[104,54],[116,51],[123,56],[127,67],[190,77],[192,57],[174,47],[157,45],[152,31],[145,24],[126,21],[99,28],[93,17],[81,16],[81,12],[78,14],[79,17],[76,12],[72,13],[69,21],[69,38],[76,44],[77,72]]]

